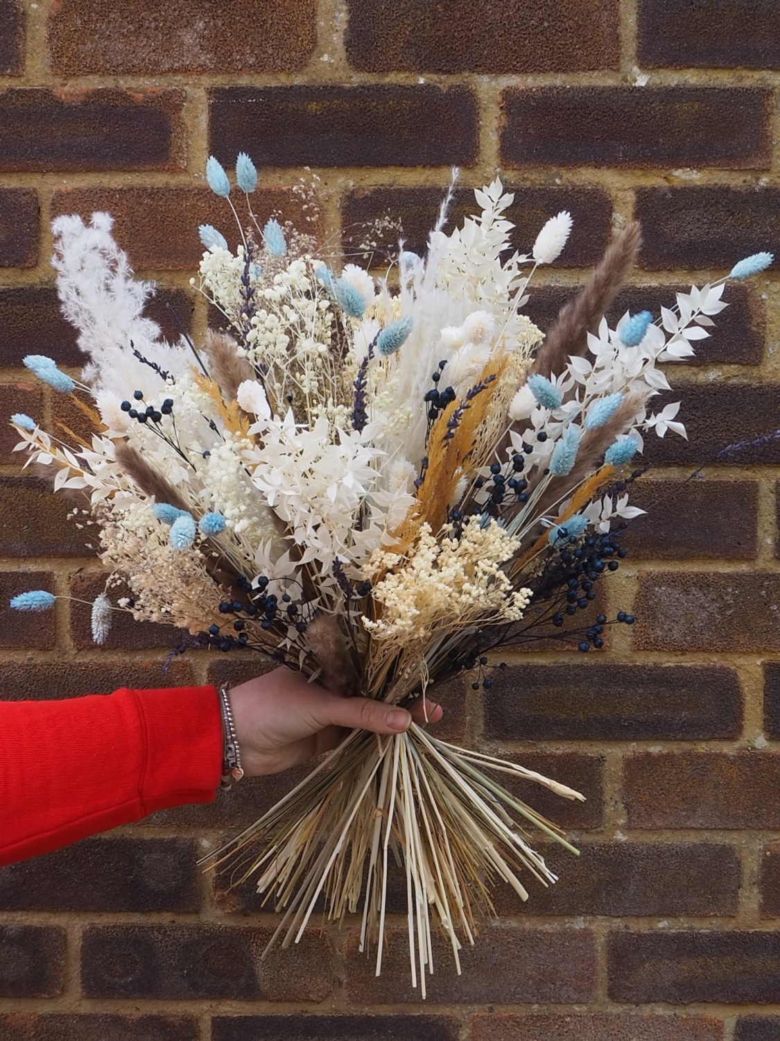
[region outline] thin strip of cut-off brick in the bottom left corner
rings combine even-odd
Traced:
[[[190,1016],[86,1015],[10,1012],[0,1015],[2,1041],[199,1041],[198,1020]]]

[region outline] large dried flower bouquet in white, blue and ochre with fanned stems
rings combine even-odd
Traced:
[[[207,178],[233,207],[213,158]],[[86,443],[60,429],[62,440],[29,416],[11,422],[28,461],[55,468],[55,489],[88,498],[111,572],[95,639],[124,610],[188,630],[180,651],[260,651],[345,695],[406,705],[463,672],[490,687],[489,652],[560,631],[618,566],[625,523],[642,512],[627,492],[644,433],[684,436],[677,404],[650,409],[669,389],[657,363],[708,335],[725,280],[678,294],[655,322],[625,314],[610,329],[604,313],[640,248],[629,224],[543,333],[521,309],[536,268],[566,244],[567,212],[523,255],[500,180],[447,232],[450,189],[425,256],[399,249],[378,280],[306,231],[261,226],[256,182],[239,155],[235,250],[200,229],[193,283],[224,328],[199,347],[164,341],[142,316],[152,287],[132,278],[107,214],[54,222],[62,309],[88,362],[80,381],[42,356],[25,363],[72,396],[94,433]],[[132,595],[112,603],[120,580]],[[32,590],[15,606],[53,601]],[[576,639],[599,648],[605,626],[632,620],[598,615]],[[519,875],[554,881],[529,833],[573,849],[501,775],[582,798],[424,727],[356,731],[222,859],[281,910],[284,944],[320,894],[330,918],[360,913],[378,973],[390,861],[400,862],[424,995],[434,923],[458,963],[493,913],[496,882],[526,899]]]

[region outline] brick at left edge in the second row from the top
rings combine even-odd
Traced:
[[[0,93],[0,171],[183,170],[182,91]]]

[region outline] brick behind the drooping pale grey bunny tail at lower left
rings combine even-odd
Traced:
[[[95,646],[89,605],[105,590],[106,578],[106,575],[83,575],[71,583],[71,595],[78,601],[89,602],[71,604],[71,639],[79,651]],[[121,596],[130,595],[130,590],[126,586],[112,586],[107,590],[107,595],[112,604],[116,604]],[[146,648],[167,648],[173,651],[181,643],[184,635],[184,630],[174,626],[136,621],[129,612],[114,611],[108,637],[101,646],[106,651],[142,651]]]

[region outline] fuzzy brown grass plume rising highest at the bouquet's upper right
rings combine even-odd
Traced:
[[[642,228],[632,221],[607,247],[584,288],[562,308],[537,353],[534,373],[548,379],[557,376],[572,355],[586,353],[588,333],[598,329],[635,264],[641,245]]]

